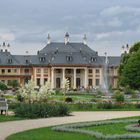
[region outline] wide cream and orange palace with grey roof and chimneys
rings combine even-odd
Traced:
[[[39,87],[50,80],[52,88],[62,88],[67,78],[73,89],[99,87],[107,65],[109,85],[117,86],[120,56],[99,56],[87,46],[86,35],[81,43],[70,42],[68,33],[64,42],[51,42],[48,35],[47,45],[37,55],[12,55],[9,47],[5,43],[0,47],[0,81],[5,84],[17,80],[23,86],[33,79]]]

